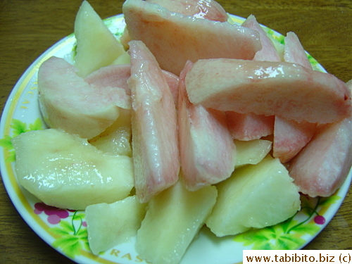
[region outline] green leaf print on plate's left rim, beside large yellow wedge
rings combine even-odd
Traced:
[[[42,130],[43,129],[43,123],[40,118],[37,118],[27,126],[25,122],[22,122],[21,120],[18,119],[13,119],[12,123],[10,125],[12,128],[12,133],[13,136],[5,135],[3,139],[0,139],[0,146],[2,146],[4,149],[8,151],[8,156],[5,158],[6,162],[13,162],[16,160],[15,158],[15,151],[12,146],[11,139],[14,137],[17,137],[19,134],[31,131],[31,130]]]

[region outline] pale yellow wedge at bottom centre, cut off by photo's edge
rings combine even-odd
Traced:
[[[214,186],[188,191],[181,182],[153,197],[137,232],[136,250],[153,264],[180,263],[217,196]]]

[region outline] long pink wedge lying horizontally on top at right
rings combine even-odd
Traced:
[[[328,123],[351,113],[351,93],[329,73],[287,62],[203,59],[186,76],[189,101],[206,108]]]

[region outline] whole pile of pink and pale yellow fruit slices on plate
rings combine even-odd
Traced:
[[[39,69],[51,128],[13,139],[18,182],[48,205],[86,210],[95,254],[137,234],[142,258],[179,263],[204,224],[222,237],[282,222],[299,210],[298,191],[329,196],[351,168],[346,84],[312,70],[294,34],[281,54],[253,16],[216,22],[224,12],[211,2],[215,18],[194,19],[127,0],[119,42],[84,1],[75,65],[52,57]],[[156,14],[180,34],[153,25]],[[215,49],[192,31],[199,23],[208,38],[243,43]],[[183,46],[170,44],[186,34]]]

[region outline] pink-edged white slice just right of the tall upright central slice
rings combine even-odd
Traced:
[[[230,177],[236,164],[236,147],[227,129],[224,112],[194,106],[189,102],[184,77],[180,75],[178,125],[182,180],[190,191]]]

